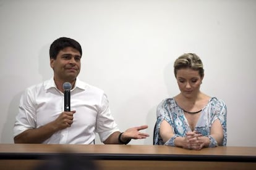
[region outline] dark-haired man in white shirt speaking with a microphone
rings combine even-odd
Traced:
[[[52,79],[29,87],[20,99],[14,124],[15,143],[94,144],[98,132],[104,144],[128,144],[145,139],[148,126],[119,132],[109,111],[106,94],[80,81],[82,47],[70,38],[56,39],[49,49]],[[71,111],[64,110],[64,89],[69,82]]]

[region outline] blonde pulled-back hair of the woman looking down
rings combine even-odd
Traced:
[[[181,68],[191,68],[198,71],[201,78],[204,75],[202,60],[193,53],[187,53],[179,56],[174,62],[174,75],[176,77],[177,70]]]

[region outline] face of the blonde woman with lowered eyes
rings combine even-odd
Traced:
[[[199,71],[192,70],[191,68],[181,68],[177,70],[176,79],[181,94],[184,97],[193,98],[200,91],[203,77],[199,75]]]

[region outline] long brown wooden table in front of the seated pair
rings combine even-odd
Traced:
[[[93,159],[100,169],[256,169],[256,147],[46,144],[0,144],[0,169],[35,169],[64,155]]]

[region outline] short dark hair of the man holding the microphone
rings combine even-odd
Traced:
[[[72,47],[80,52],[82,56],[82,47],[80,46],[79,42],[75,41],[75,39],[61,37],[53,41],[49,49],[50,59],[56,60],[59,51],[66,47]]]

